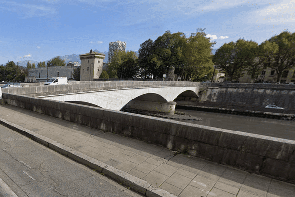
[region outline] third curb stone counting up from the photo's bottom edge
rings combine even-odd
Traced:
[[[95,169],[97,172],[100,172],[100,173],[102,172],[102,169],[107,166],[107,164],[100,162],[76,150],[69,151],[68,157],[81,164],[87,165],[90,168]]]

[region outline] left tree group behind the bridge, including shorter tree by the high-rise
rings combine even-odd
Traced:
[[[110,78],[162,78],[169,67],[184,80],[200,81],[211,77],[213,62],[210,42],[204,29],[190,37],[184,33],[166,31],[155,41],[148,39],[134,51],[116,51],[107,66]]]

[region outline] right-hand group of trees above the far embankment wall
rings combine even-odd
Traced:
[[[217,49],[213,62],[230,81],[238,80],[245,73],[257,79],[261,71],[276,71],[277,82],[285,70],[295,67],[295,32],[284,31],[258,44],[239,39]]]

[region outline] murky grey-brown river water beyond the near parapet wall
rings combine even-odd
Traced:
[[[295,121],[185,109],[176,109],[176,111],[202,119],[200,121],[179,120],[183,122],[295,140]]]

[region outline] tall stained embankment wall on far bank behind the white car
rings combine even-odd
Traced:
[[[274,104],[285,108],[278,113],[295,111],[295,85],[201,83],[199,88],[203,89],[197,99],[200,106],[261,111]]]

